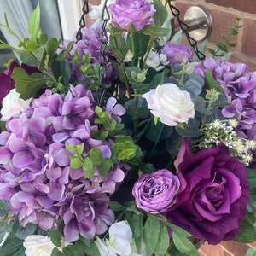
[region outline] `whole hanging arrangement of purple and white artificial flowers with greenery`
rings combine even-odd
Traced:
[[[256,73],[196,60],[159,0],[92,8],[77,42],[40,32],[38,5],[31,38],[0,44],[19,55],[0,74],[0,254],[255,241]]]

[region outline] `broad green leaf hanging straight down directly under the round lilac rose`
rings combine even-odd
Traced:
[[[146,247],[146,255],[152,256],[157,245],[160,232],[160,223],[156,218],[148,218],[144,225],[143,234]]]

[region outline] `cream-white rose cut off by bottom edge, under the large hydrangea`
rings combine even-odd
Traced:
[[[26,256],[44,255],[50,256],[55,245],[50,241],[49,236],[32,235],[27,236],[23,246]]]

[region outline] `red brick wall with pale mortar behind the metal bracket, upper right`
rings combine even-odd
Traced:
[[[230,61],[246,63],[250,71],[256,70],[256,1],[252,0],[177,0],[175,5],[181,14],[191,5],[201,4],[212,15],[212,32],[208,38],[211,46],[221,41],[221,36],[230,36],[230,27],[241,18],[243,27],[235,40],[236,48]]]

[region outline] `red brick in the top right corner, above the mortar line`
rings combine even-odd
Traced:
[[[256,13],[256,2],[252,0],[206,0],[207,3],[214,3],[216,5],[234,8],[241,12],[255,14]]]

